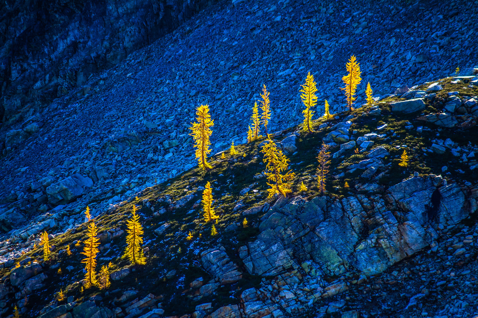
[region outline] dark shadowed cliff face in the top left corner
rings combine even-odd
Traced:
[[[214,0],[2,1],[0,117],[13,122],[172,32]]]

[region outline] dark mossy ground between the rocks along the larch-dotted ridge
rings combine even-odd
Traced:
[[[438,93],[437,98],[445,98],[446,92],[454,90],[460,91],[459,95],[463,96],[478,94],[476,87],[463,87],[463,84],[451,84],[451,81],[451,78],[441,81],[441,85],[444,86],[444,93]],[[426,87],[423,85],[421,88]],[[454,180],[467,180],[476,184],[478,170],[470,170],[466,163],[459,162],[459,157],[454,157],[449,151],[443,155],[436,155],[424,152],[423,149],[429,148],[431,140],[435,138],[450,138],[462,147],[467,146],[471,140],[470,136],[478,136],[478,128],[472,127],[467,130],[457,128],[440,129],[433,124],[414,122],[413,119],[420,114],[403,115],[391,113],[389,103],[395,100],[397,98],[387,98],[376,104],[381,109],[381,116],[379,117],[369,115],[368,110],[370,106],[363,106],[351,112],[335,114],[328,121],[324,117],[314,120],[312,124],[314,132],[311,134],[307,134],[300,129],[301,136],[296,143],[297,152],[288,156],[290,168],[295,172],[292,195],[304,195],[309,198],[318,195],[316,180],[314,179],[317,168],[315,158],[317,150],[322,144],[322,138],[330,132],[329,127],[343,121],[348,115],[354,116],[351,119],[353,122],[351,129],[358,131],[355,136],[377,132],[377,127],[382,124],[388,125],[384,130],[378,131],[379,134],[385,134],[386,136],[375,139],[375,144],[372,147],[383,146],[390,152],[390,155],[383,159],[387,168],[386,173],[380,180],[375,181],[379,185],[390,186],[396,184],[409,177],[414,171],[418,171],[421,175],[441,174],[442,166],[445,165],[449,166],[447,171],[449,174],[445,175],[445,177]],[[435,104],[428,105],[425,113],[437,111],[435,107],[437,107]],[[339,118],[334,118],[334,116]],[[325,122],[328,123],[328,126],[320,129],[319,126]],[[414,126],[411,129],[407,129],[408,123],[413,123]],[[417,126],[429,127],[430,130],[424,130],[419,133],[416,130]],[[293,132],[295,129],[298,128],[290,128],[284,131],[281,137],[274,138],[274,140],[280,141],[284,135]],[[114,297],[120,297],[124,290],[132,287],[139,291],[139,297],[144,297],[149,293],[155,296],[163,295],[163,308],[166,315],[192,312],[196,305],[205,302],[212,302],[213,307],[237,303],[238,299],[233,297],[234,295],[251,286],[257,286],[261,281],[261,277],[248,275],[244,268],[244,279],[232,286],[221,286],[217,293],[210,297],[198,299],[193,295],[194,291],[189,291],[188,288],[189,283],[198,277],[202,276],[205,282],[212,278],[201,269],[197,262],[199,251],[217,246],[220,243],[225,246],[228,255],[233,261],[242,266],[241,260],[237,255],[238,247],[254,240],[254,237],[259,233],[257,225],[263,213],[248,216],[249,227],[243,228],[241,225],[243,221],[241,211],[233,212],[233,209],[239,201],[245,204],[247,208],[273,201],[273,199],[267,199],[265,178],[254,179],[254,176],[260,174],[265,167],[265,164],[262,162],[263,156],[259,153],[258,148],[263,140],[264,138],[261,138],[250,144],[236,146],[239,155],[235,156],[235,158],[230,158],[228,155],[226,159],[220,159],[220,155],[212,156],[210,158],[210,162],[214,167],[212,170],[202,171],[199,168],[195,168],[186,171],[171,180],[142,191],[140,200],[133,199],[129,202],[123,202],[124,204],[114,212],[101,214],[95,218],[94,222],[99,228],[98,233],[116,228],[126,230],[125,224],[130,216],[132,205],[138,205],[140,207],[140,221],[145,232],[144,246],[150,249],[147,253],[147,264],[132,266],[133,272],[130,275],[119,281],[113,281],[108,289],[109,295],[107,296],[105,296],[104,291],[99,290],[97,287],[92,287],[80,293],[81,284],[79,281],[83,279],[84,275],[83,264],[81,263],[83,255],[80,254],[83,250],[83,244],[75,246],[74,243],[86,239],[87,223],[82,224],[74,231],[70,230],[56,236],[50,242],[51,245],[55,246],[51,260],[44,262],[44,272],[48,275],[47,289],[39,296],[29,297],[27,303],[27,307],[31,310],[31,316],[36,316],[42,307],[54,302],[54,295],[60,288],[63,289],[66,297],[73,296],[77,302],[100,294],[103,297],[103,302],[109,303]],[[406,148],[402,147],[403,145],[406,145]],[[412,156],[409,166],[405,168],[398,165],[403,149],[406,149],[408,154]],[[349,149],[344,153],[343,158],[331,159],[326,195],[348,196],[357,192],[355,188],[358,184],[370,182],[370,180],[360,177],[363,170],[347,173],[349,165],[367,159],[366,154],[368,152],[355,153],[354,151],[355,149]],[[459,173],[458,169],[461,169],[464,173]],[[333,178],[334,175],[338,175],[341,172],[345,173],[343,178],[337,180]],[[213,203],[213,206],[219,215],[216,224],[219,234],[216,237],[211,237],[210,235],[212,222],[204,223],[202,221],[202,205],[193,208],[193,204],[200,200],[202,196],[202,191],[197,191],[197,187],[204,187],[207,181],[211,182],[214,189],[213,198],[216,201]],[[299,192],[299,185],[302,181],[308,188],[306,193]],[[345,181],[348,182],[350,188],[343,188]],[[243,195],[239,193],[251,184],[253,186],[250,191]],[[170,197],[174,202],[187,194],[195,194],[195,198],[184,207],[174,211],[167,211],[160,215],[153,215],[153,212],[142,204],[143,200],[147,199],[153,203],[154,210],[158,211],[160,208],[167,208],[168,206],[168,203],[158,200],[159,198]],[[165,233],[160,235],[154,233],[154,230],[163,223],[170,225]],[[226,231],[226,228],[233,223],[237,224],[237,228]],[[192,241],[186,240],[189,231],[194,236]],[[67,256],[66,253],[58,254],[60,250],[66,248],[67,244],[70,245],[73,255]],[[129,266],[129,261],[121,257],[124,249],[125,235],[113,239],[110,242],[110,247],[105,248],[98,255],[98,270],[100,265],[107,265],[109,262],[113,264],[110,267],[110,271]],[[107,250],[109,252],[105,253]],[[26,257],[32,257],[32,259],[43,262],[42,246],[37,246],[34,251],[24,254],[22,259]],[[111,257],[112,259],[102,260],[101,258],[104,257]],[[70,265],[74,269],[67,271],[66,267]],[[62,269],[61,275],[57,274],[58,268]],[[173,278],[166,279],[166,274],[173,269],[177,271],[176,275]],[[1,274],[5,276],[7,270],[3,269]]]

